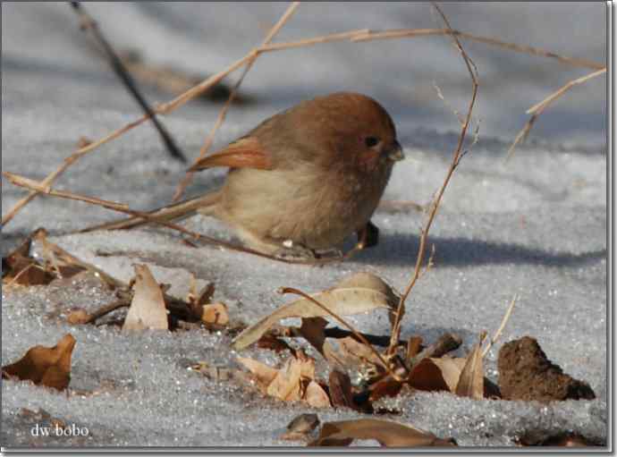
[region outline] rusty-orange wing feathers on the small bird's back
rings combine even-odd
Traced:
[[[244,137],[232,142],[226,148],[200,159],[189,171],[195,172],[214,166],[230,168],[257,168],[272,170],[272,160],[255,137]]]

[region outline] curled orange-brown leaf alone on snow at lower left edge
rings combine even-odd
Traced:
[[[2,377],[17,377],[22,381],[32,381],[36,385],[46,385],[64,390],[71,382],[71,355],[75,347],[72,334],[63,338],[51,348],[34,346],[21,360],[2,368]]]

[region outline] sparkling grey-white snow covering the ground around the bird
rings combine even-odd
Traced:
[[[263,39],[284,4],[88,4],[117,47],[138,48],[155,63],[192,72],[217,72]],[[452,27],[478,35],[545,47],[604,62],[603,4],[445,4]],[[427,4],[306,4],[277,40],[358,28],[441,27]],[[106,64],[97,60],[66,4],[2,6],[2,166],[42,178],[69,155],[80,136],[98,139],[139,116]],[[606,153],[604,84],[599,78],[571,91],[547,110],[532,141],[503,163],[525,110],[586,70],[529,55],[469,44],[478,64],[480,140],[446,190],[431,230],[435,267],[408,304],[403,335],[434,341],[460,334],[463,351],[482,330],[493,331],[513,294],[520,294],[502,342],[531,335],[566,373],[595,390],[592,402],[474,402],[449,394],[415,394],[393,404],[391,419],[452,436],[461,445],[511,445],[528,429],[571,429],[605,439]],[[266,55],[242,86],[253,105],[234,107],[216,145],[303,98],[338,89],[376,97],[393,114],[408,160],[398,164],[385,199],[426,203],[443,181],[457,123],[435,96],[435,81],[463,110],[469,97],[464,67],[444,38],[323,45]],[[165,94],[146,90],[152,101]],[[165,124],[195,157],[219,106],[195,102]],[[183,166],[165,156],[156,132],[141,126],[72,167],[58,188],[123,201],[135,208],[169,201]],[[222,171],[201,173],[190,195],[221,182]],[[3,180],[3,213],[23,192]],[[2,251],[38,226],[73,255],[128,279],[131,264],[147,262],[159,282],[188,287],[189,272],[216,284],[216,300],[247,323],[284,300],[281,285],[315,292],[351,272],[368,270],[395,287],[407,284],[423,216],[413,209],[378,210],[381,242],[342,265],[288,266],[245,254],[182,244],[172,233],[64,235],[113,218],[78,202],[36,199],[3,227]],[[207,218],[193,229],[227,236]],[[3,365],[34,344],[53,345],[71,332],[72,387],[103,394],[70,399],[27,384],[3,382],[2,444],[11,446],[265,446],[309,408],[247,394],[185,369],[188,361],[231,364],[228,339],[203,331],[121,334],[110,327],[68,326],[72,306],[94,309],[110,300],[96,284],[34,287],[3,293]],[[385,316],[356,317],[359,328],[385,334]],[[497,347],[487,359],[495,377]],[[274,360],[266,351],[242,355]],[[111,387],[110,387],[111,385]],[[43,408],[89,428],[78,439],[30,436],[21,408]],[[350,410],[317,411],[322,421]]]

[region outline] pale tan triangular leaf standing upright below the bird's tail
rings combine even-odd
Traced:
[[[133,289],[135,293],[124,319],[123,331],[148,328],[168,330],[163,292],[146,265],[135,265]]]

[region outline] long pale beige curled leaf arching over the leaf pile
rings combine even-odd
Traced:
[[[371,273],[358,273],[344,279],[334,288],[311,295],[327,309],[339,316],[361,314],[373,309],[396,309],[399,298],[393,288]],[[270,316],[254,326],[249,326],[233,341],[233,349],[239,351],[258,341],[261,335],[278,321],[287,317],[328,317],[325,309],[304,298],[283,305]]]

